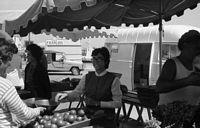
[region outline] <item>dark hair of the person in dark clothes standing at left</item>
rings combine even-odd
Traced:
[[[31,53],[31,55],[37,60],[37,62],[40,62],[41,57],[43,55],[43,50],[40,46],[36,44],[29,44],[26,47],[26,50]]]

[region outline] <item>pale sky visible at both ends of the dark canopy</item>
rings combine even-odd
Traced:
[[[35,0],[0,0],[0,10],[26,10]],[[193,10],[186,10],[181,17],[173,16],[164,24],[191,25],[200,28],[200,4]]]

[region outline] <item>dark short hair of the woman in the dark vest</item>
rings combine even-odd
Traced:
[[[108,49],[106,47],[101,47],[101,48],[96,48],[92,51],[92,56],[96,56],[98,54],[101,54],[104,57],[105,68],[107,69],[110,63],[110,53]]]

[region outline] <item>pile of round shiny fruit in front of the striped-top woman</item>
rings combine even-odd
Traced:
[[[64,113],[54,113],[37,117],[34,121],[24,123],[21,128],[60,128],[86,119],[83,109],[72,109]]]

